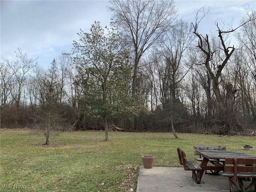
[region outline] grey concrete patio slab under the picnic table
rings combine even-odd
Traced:
[[[245,182],[248,186],[249,182]],[[233,186],[234,191],[239,191]],[[192,171],[180,167],[153,167],[145,169],[140,166],[137,192],[229,192],[228,178],[215,175],[202,177],[196,184]],[[251,191],[254,191],[252,188]]]

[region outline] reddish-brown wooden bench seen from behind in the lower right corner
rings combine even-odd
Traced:
[[[225,168],[221,175],[229,178],[230,192],[233,192],[233,185],[242,192],[248,192],[253,186],[256,191],[255,164],[256,158],[225,158]],[[252,182],[247,188],[244,188],[243,180],[252,180]]]

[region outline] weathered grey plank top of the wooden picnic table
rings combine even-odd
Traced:
[[[226,150],[196,150],[198,154],[208,159],[225,159],[225,158],[252,158],[256,156],[250,155],[240,151],[226,151]]]

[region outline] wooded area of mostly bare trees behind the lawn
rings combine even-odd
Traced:
[[[109,27],[80,30],[48,70],[20,48],[0,68],[0,126],[44,130],[252,133],[256,12],[200,32],[173,1],[110,0]],[[210,10],[209,10],[210,11]],[[203,13],[203,14],[202,14]],[[230,21],[231,22],[231,21]],[[116,129],[119,128],[119,129]]]

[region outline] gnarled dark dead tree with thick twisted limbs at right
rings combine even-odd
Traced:
[[[204,14],[204,16],[206,16],[206,14]],[[235,99],[234,94],[237,90],[234,88],[231,82],[228,82],[226,84],[226,94],[222,94],[220,90],[220,76],[223,72],[224,67],[230,60],[230,57],[236,50],[234,46],[228,45],[228,43],[226,42],[226,38],[230,33],[236,31],[238,28],[244,26],[246,23],[254,19],[250,17],[246,22],[240,24],[240,26],[238,26],[237,28],[231,28],[228,30],[222,30],[219,27],[218,23],[216,23],[218,38],[212,40],[214,42],[217,42],[218,39],[217,44],[215,44],[217,46],[214,46],[214,43],[211,42],[208,34],[202,35],[198,32],[198,25],[200,24],[201,20],[202,19],[199,19],[197,14],[196,22],[193,24],[193,33],[198,38],[197,47],[202,51],[205,56],[204,62],[202,64],[206,67],[208,73],[210,74],[210,78],[212,79],[213,91],[218,102],[218,107],[220,109],[220,119],[222,119],[222,124],[224,125],[224,127],[226,127],[227,130],[236,128],[241,131],[242,126],[236,120],[233,111]],[[212,63],[213,58],[217,56],[221,56],[221,58],[218,59],[218,62]]]

